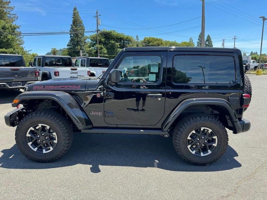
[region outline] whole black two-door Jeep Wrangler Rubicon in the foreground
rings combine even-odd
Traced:
[[[137,66],[147,71],[129,76]],[[123,49],[98,78],[28,85],[12,103],[23,106],[5,122],[17,126],[16,144],[33,161],[59,159],[80,131],[172,135],[184,160],[207,165],[227,148],[225,128],[234,134],[250,129],[242,118],[250,99],[238,49],[134,47]]]

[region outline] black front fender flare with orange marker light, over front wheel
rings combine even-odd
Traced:
[[[77,101],[68,93],[61,91],[30,91],[21,93],[15,99],[18,99],[19,101],[18,103],[12,103],[12,107],[23,104],[23,102],[27,100],[54,100],[65,110],[78,129],[82,130],[92,127],[92,122],[87,114],[80,107]]]

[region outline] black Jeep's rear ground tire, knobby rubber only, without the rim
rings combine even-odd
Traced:
[[[187,148],[187,137],[196,128],[207,127],[217,136],[216,148],[206,156],[197,156]],[[173,146],[182,159],[194,165],[211,164],[224,154],[228,146],[228,135],[224,125],[214,116],[205,114],[190,114],[176,124],[173,130]]]

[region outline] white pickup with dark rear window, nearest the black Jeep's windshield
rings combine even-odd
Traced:
[[[109,67],[109,59],[84,56],[77,57],[74,61],[74,67],[86,67],[91,71],[91,76],[100,76]]]

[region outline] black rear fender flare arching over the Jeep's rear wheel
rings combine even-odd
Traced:
[[[234,132],[241,132],[241,126],[238,123],[238,118],[236,113],[231,108],[231,105],[228,101],[221,98],[191,98],[182,101],[174,110],[173,112],[166,118],[166,120],[162,124],[163,131],[168,131],[173,124],[173,122],[180,116],[180,114],[188,107],[193,105],[218,105],[224,107],[230,115],[230,119],[232,124],[236,130]]]

